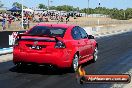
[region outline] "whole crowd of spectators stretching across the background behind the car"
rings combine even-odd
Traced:
[[[10,29],[13,22],[18,21],[19,25],[22,26],[22,15],[21,12],[12,12],[12,13],[0,13],[0,22],[2,25],[2,30],[6,30],[7,28]],[[49,20],[56,20],[57,22],[64,22],[66,23],[69,21],[69,16],[61,16],[58,13],[31,13],[31,12],[24,12],[23,14],[23,27],[27,29],[30,27],[31,22],[49,22]],[[7,25],[7,26],[6,26]]]

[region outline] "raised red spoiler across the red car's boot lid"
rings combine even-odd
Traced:
[[[57,38],[57,36],[50,36],[50,35],[31,35],[31,34],[18,34],[17,35],[17,39],[21,40],[22,36],[37,36],[37,37],[49,37],[49,38],[54,38],[56,42],[58,42],[59,40],[62,40],[62,38]]]

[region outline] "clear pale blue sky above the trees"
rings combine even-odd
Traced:
[[[24,5],[28,7],[36,7],[39,3],[47,5],[48,0],[23,0]],[[73,5],[75,7],[87,8],[88,0],[52,0],[51,5]],[[4,7],[11,7],[13,2],[21,3],[21,0],[1,0]],[[100,0],[102,7],[126,9],[132,8],[132,0]],[[89,7],[95,8],[98,6],[99,0],[89,0]]]

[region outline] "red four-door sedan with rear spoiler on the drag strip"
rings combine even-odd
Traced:
[[[98,43],[92,35],[74,25],[38,24],[19,34],[13,48],[16,66],[25,64],[53,65],[78,69],[78,65],[97,60]]]

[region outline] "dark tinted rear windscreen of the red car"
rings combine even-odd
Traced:
[[[65,34],[65,31],[66,31],[66,28],[35,26],[28,32],[28,34],[63,37]]]

